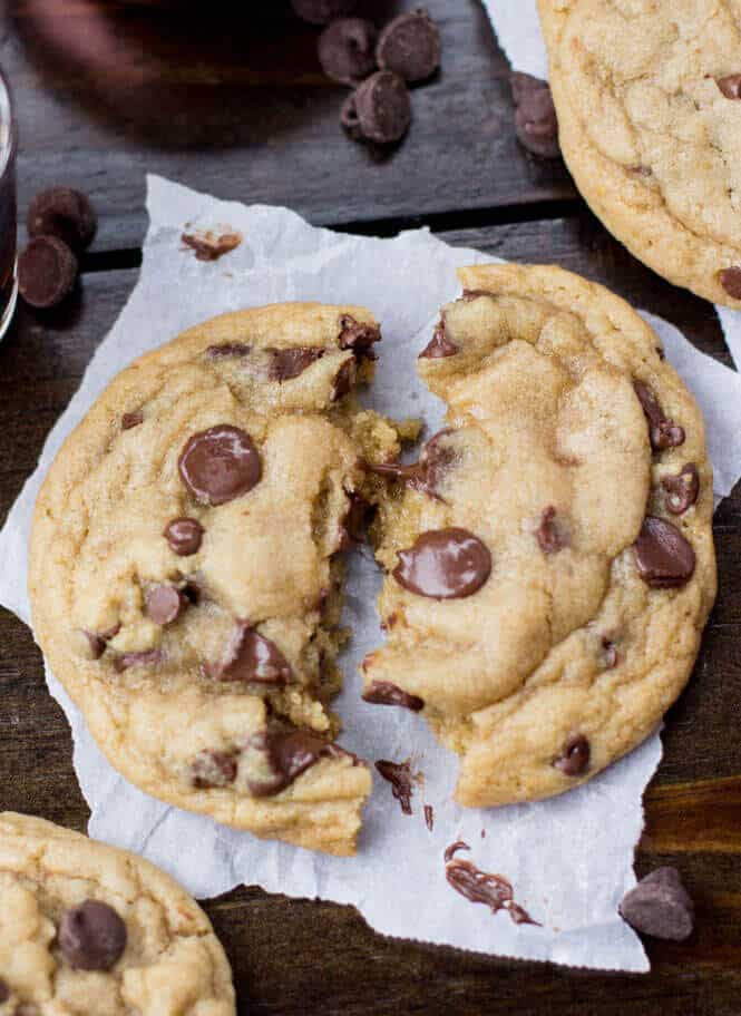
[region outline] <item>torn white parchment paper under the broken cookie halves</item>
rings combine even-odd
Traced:
[[[148,182],[148,211],[139,281],[101,338],[80,390],[0,534],[0,603],[27,622],[27,545],[42,477],[71,428],[133,358],[227,310],[286,300],[365,304],[382,322],[384,336],[369,403],[392,416],[419,414],[435,428],[442,406],[419,383],[416,356],[438,307],[458,293],[455,268],[490,260],[450,247],[426,229],[393,240],[340,235],[313,228],[284,208],[220,202],[156,177]],[[186,224],[226,225],[244,240],[221,261],[204,264],[183,250]],[[671,325],[652,324],[703,407],[715,491],[725,495],[741,475],[741,378],[696,352]],[[255,883],[272,892],[353,903],[388,935],[578,966],[647,969],[641,942],[617,916],[617,905],[635,883],[641,799],[661,756],[659,735],[556,800],[488,812],[458,808],[451,802],[456,759],[435,742],[425,722],[360,700],[357,664],[382,641],[374,609],[379,585],[365,548],[354,556],[348,583],[345,622],[354,637],[343,660],[340,740],[371,761],[412,755],[425,783],[416,791],[411,817],[401,813],[390,785],[376,778],[358,857],[337,859],[267,843],[169,808],[111,769],[47,670],[49,688],[72,727],[75,769],[92,812],[90,834],[144,854],[198,897]],[[423,821],[426,803],[435,809],[432,832]],[[447,885],[442,852],[458,838],[470,844],[480,868],[510,879],[517,901],[543,927],[517,927],[505,912],[493,916]]]

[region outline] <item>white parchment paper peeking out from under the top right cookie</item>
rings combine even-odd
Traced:
[[[514,70],[548,80],[546,53],[537,0],[484,0],[499,45]],[[741,370],[741,311],[715,306],[725,342],[737,368]]]

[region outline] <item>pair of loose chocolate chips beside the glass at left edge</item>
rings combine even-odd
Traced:
[[[28,209],[26,250],[18,258],[18,289],[32,307],[48,310],[68,296],[78,257],[92,243],[98,217],[89,199],[70,187],[50,187]]]

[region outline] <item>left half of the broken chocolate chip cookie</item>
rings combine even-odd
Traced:
[[[368,768],[329,707],[380,331],[316,304],[214,319],[125,370],[39,497],[38,641],[110,762],[220,822],[350,853]]]

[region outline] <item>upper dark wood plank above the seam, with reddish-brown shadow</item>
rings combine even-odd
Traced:
[[[507,66],[481,6],[427,7],[443,69],[415,90],[404,144],[379,155],[343,136],[347,90],[322,76],[316,31],[285,2],[158,12],[7,0],[0,63],[18,97],[21,213],[41,187],[80,187],[105,213],[96,250],[108,251],[142,241],[145,173],[326,224],[573,197],[559,160],[532,159],[516,141]]]

